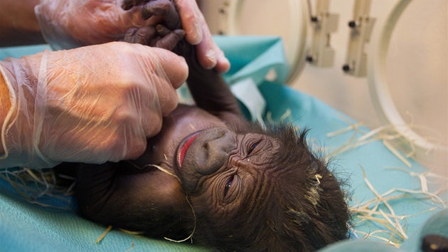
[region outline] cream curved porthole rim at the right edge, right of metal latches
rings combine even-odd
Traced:
[[[411,1],[398,1],[390,11],[381,31],[376,33],[378,37],[371,39],[372,49],[368,55],[367,71],[370,98],[380,122],[390,125],[395,132],[402,136],[402,139],[397,139],[397,141],[400,141],[400,147],[405,152],[412,154],[412,157],[419,162],[446,166],[447,147],[435,145],[412,130],[412,127],[402,119],[400,112],[395,107],[387,81],[386,59],[392,33],[398,19]]]

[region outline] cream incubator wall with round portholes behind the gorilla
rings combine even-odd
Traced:
[[[369,77],[359,78],[347,75],[342,70],[347,60],[348,35],[352,31],[347,24],[353,21],[355,0],[333,0],[329,4],[329,12],[339,15],[338,30],[331,34],[331,47],[335,51],[333,67],[316,68],[304,64],[306,46],[311,45],[311,26],[306,4],[314,8],[316,1],[201,2],[208,7],[205,15],[212,31],[215,26],[214,33],[224,31],[228,34],[282,36],[289,62],[297,65],[289,77],[289,85],[324,100],[372,129],[382,125],[400,125],[397,129],[412,139],[416,147],[415,157],[420,161],[436,162],[444,167],[446,174],[448,159],[444,147],[447,145],[448,132],[448,2],[370,1],[368,16],[375,19],[375,24],[370,27],[372,33],[363,47],[363,58],[367,59],[369,65],[366,73]],[[294,2],[297,6],[294,6]],[[402,7],[398,8],[402,10],[400,13],[395,10],[394,13],[393,9],[399,3]],[[297,9],[294,11],[294,8]],[[296,14],[292,14],[294,12]],[[394,20],[394,16],[397,20]],[[298,17],[299,23],[302,22],[299,26],[292,21]],[[388,35],[383,34],[388,32]],[[294,61],[295,56],[299,57],[299,61]],[[294,78],[298,73],[300,78]],[[417,129],[416,125],[426,132]],[[438,139],[435,141],[434,135],[427,134],[427,129],[431,128],[437,132]]]

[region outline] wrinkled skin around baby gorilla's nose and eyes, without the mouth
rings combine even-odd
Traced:
[[[207,199],[217,216],[238,207],[257,184],[265,182],[279,146],[267,135],[220,127],[188,138],[192,139],[183,159],[176,160],[176,174],[193,203],[196,198]],[[178,152],[184,146],[179,145]]]

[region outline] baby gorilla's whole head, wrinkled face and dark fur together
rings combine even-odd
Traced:
[[[193,135],[178,176],[196,214],[195,241],[228,251],[314,251],[346,238],[340,184],[305,135],[288,125]]]

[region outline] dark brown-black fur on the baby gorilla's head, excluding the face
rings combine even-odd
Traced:
[[[341,182],[309,150],[306,131],[280,124],[265,134],[283,143],[269,184],[230,219],[209,216],[208,206],[197,206],[195,241],[225,251],[316,251],[348,238],[350,214]],[[309,199],[311,189],[319,192],[316,204]]]

